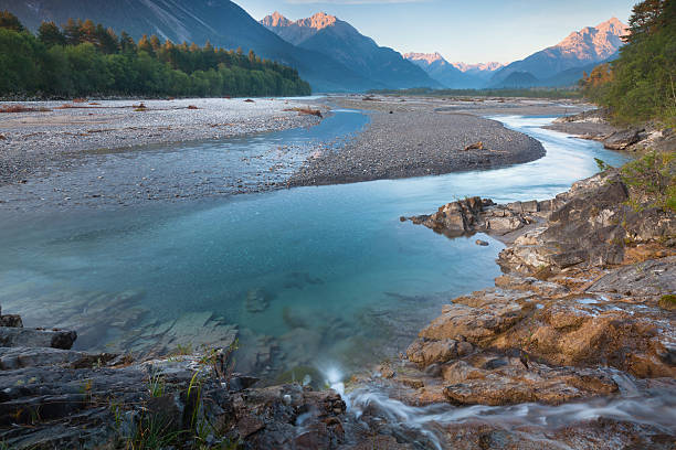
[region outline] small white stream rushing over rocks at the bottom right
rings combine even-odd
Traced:
[[[340,390],[339,385],[334,387]],[[348,410],[357,419],[362,415],[378,417],[388,424],[393,435],[416,443],[416,448],[425,449],[447,448],[444,443],[444,427],[464,424],[516,431],[524,438],[540,440],[542,447],[549,444],[547,448],[561,449],[571,447],[557,442],[552,437],[553,430],[598,419],[627,421],[648,426],[665,436],[676,435],[676,395],[673,385],[645,389],[635,395],[624,393],[616,397],[592,398],[559,406],[530,403],[513,406],[414,407],[372,388],[356,390],[344,395],[344,398]],[[583,448],[580,446],[583,443],[573,448]]]

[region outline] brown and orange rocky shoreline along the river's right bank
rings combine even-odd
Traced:
[[[673,448],[676,216],[629,206],[632,191],[608,171],[545,202],[466,199],[411,217],[450,237],[483,232],[509,243],[498,258],[505,275],[446,306],[400,366],[381,368],[381,388],[418,406],[662,395],[667,427],[601,416],[526,430],[448,425],[441,435],[472,449],[485,439],[490,448]]]

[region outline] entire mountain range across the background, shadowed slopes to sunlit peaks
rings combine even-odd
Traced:
[[[627,26],[613,18],[571,33],[559,44],[506,66],[450,63],[439,53],[402,56],[348,22],[317,13],[292,21],[275,12],[262,21],[230,0],[0,0],[32,31],[42,21],[92,19],[133,38],[253,50],[298,69],[315,92],[405,87],[530,87],[573,85],[583,71],[617,55]]]

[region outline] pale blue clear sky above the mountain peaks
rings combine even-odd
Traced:
[[[254,19],[323,11],[398,52],[440,52],[447,61],[509,63],[572,31],[616,17],[638,0],[234,0]]]

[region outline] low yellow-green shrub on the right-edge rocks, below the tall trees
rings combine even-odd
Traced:
[[[676,151],[645,154],[622,168],[622,181],[630,188],[630,203],[676,212]]]

